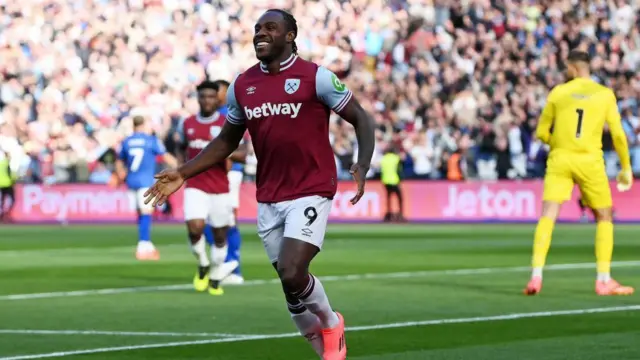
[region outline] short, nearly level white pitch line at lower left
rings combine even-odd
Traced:
[[[243,334],[208,333],[208,332],[156,332],[156,331],[104,331],[104,330],[35,330],[35,329],[0,329],[0,334],[24,335],[105,335],[105,336],[144,336],[144,337],[238,337]]]

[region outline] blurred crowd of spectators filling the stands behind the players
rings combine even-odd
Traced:
[[[636,4],[632,5],[630,3]],[[131,117],[170,151],[195,85],[256,62],[253,24],[297,18],[302,57],[333,70],[378,124],[405,178],[544,174],[532,132],[570,49],[612,87],[640,173],[640,7],[625,0],[0,0],[0,150],[26,182],[111,179]],[[341,178],[355,133],[334,116]],[[608,171],[617,158],[605,134]],[[252,174],[248,170],[248,177]]]

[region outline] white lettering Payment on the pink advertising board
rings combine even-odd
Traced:
[[[21,195],[22,213],[34,218],[91,220],[135,212],[126,190],[108,187],[27,185]]]

